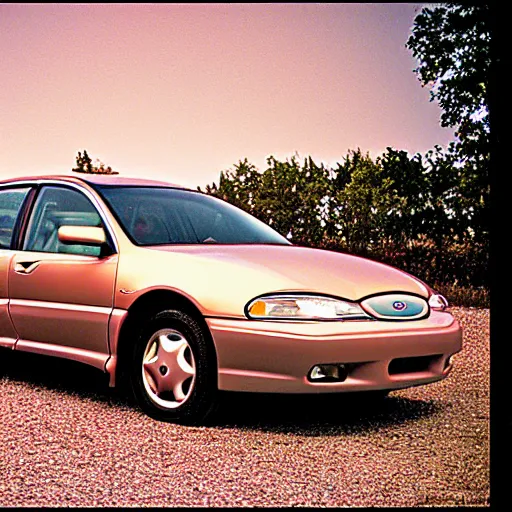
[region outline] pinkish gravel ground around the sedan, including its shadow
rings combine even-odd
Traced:
[[[0,506],[488,506],[489,310],[448,379],[377,404],[226,394],[156,422],[70,361],[2,351]]]

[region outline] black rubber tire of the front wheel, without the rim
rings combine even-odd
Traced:
[[[158,407],[147,395],[142,380],[142,360],[147,343],[160,329],[176,329],[182,333],[192,351],[196,376],[191,395],[175,409]],[[213,344],[204,328],[190,314],[168,309],[144,322],[135,336],[130,358],[129,381],[132,393],[141,409],[148,416],[175,423],[197,424],[212,412],[216,405],[217,378]]]

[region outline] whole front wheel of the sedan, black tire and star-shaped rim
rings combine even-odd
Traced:
[[[154,419],[199,424],[217,405],[213,343],[184,311],[161,311],[146,321],[128,364],[134,398]]]

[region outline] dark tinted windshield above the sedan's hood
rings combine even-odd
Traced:
[[[252,215],[200,192],[119,185],[95,188],[137,245],[290,245]]]

